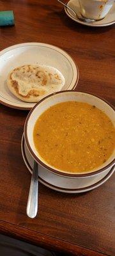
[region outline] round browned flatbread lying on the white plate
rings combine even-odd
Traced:
[[[7,86],[10,92],[25,102],[38,102],[53,92],[60,91],[65,78],[54,67],[23,65],[10,71]]]

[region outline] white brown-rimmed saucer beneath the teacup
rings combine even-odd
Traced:
[[[67,5],[71,7],[78,14],[78,16],[81,16],[79,0],[70,0],[68,1]],[[113,4],[111,10],[109,11],[109,13],[106,15],[104,19],[98,20],[95,22],[84,22],[82,20],[77,19],[77,17],[75,17],[75,15],[73,14],[73,12],[68,10],[68,8],[66,7],[65,7],[65,12],[68,15],[68,17],[70,17],[70,19],[75,20],[75,22],[78,22],[86,26],[105,27],[105,26],[110,26],[112,24],[115,24],[115,4]]]

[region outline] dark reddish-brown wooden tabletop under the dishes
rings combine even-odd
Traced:
[[[0,50],[24,42],[57,45],[77,62],[77,90],[114,104],[114,26],[77,24],[56,0],[0,1],[0,10],[13,10],[15,15],[15,26],[0,28]],[[114,256],[115,175],[81,195],[57,193],[40,184],[38,217],[27,218],[31,175],[20,150],[27,113],[1,105],[0,232],[72,255]]]

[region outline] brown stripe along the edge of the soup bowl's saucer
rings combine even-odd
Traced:
[[[31,165],[29,164],[29,162],[28,162],[28,160],[27,160],[27,157],[26,157],[26,152],[25,152],[25,148],[24,148],[24,134],[22,135],[22,156],[24,156],[24,160],[26,161],[26,167],[28,167],[29,168],[29,170],[31,170],[31,172],[33,172],[33,169],[31,168]],[[63,190],[63,191],[76,191],[76,192],[78,192],[78,191],[81,191],[82,190],[82,192],[84,192],[84,190],[86,190],[86,189],[94,189],[94,187],[95,186],[99,186],[99,185],[101,185],[101,184],[103,184],[102,182],[104,181],[104,180],[106,180],[107,178],[109,179],[109,176],[111,175],[111,173],[113,172],[113,170],[114,170],[114,167],[115,166],[112,166],[112,168],[111,168],[111,170],[105,175],[105,177],[104,178],[102,178],[101,180],[98,180],[98,182],[96,182],[95,184],[93,184],[93,185],[90,185],[90,186],[87,186],[87,187],[84,187],[84,188],[76,188],[76,189],[71,189],[71,188],[61,188],[61,187],[58,187],[58,186],[54,186],[53,184],[50,184],[49,182],[47,182],[46,180],[43,180],[41,177],[39,177],[38,176],[38,179],[40,180],[40,182],[42,182],[42,184],[43,185],[46,185],[47,187],[49,186],[49,187],[52,187],[52,188],[54,188],[54,189],[60,189],[60,190]],[[111,176],[110,176],[111,177]],[[101,183],[101,184],[100,184]],[[81,192],[81,193],[82,193]]]

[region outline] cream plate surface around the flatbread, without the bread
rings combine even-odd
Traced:
[[[57,68],[65,77],[62,90],[73,90],[79,81],[79,70],[71,56],[54,45],[24,43],[0,52],[0,102],[10,108],[31,109],[35,103],[17,99],[7,88],[6,79],[11,69],[21,65],[48,65]],[[1,76],[2,74],[2,76]]]

